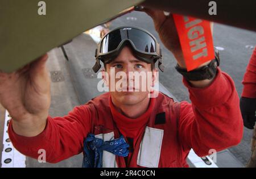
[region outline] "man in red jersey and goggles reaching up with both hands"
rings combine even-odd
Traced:
[[[163,44],[174,54],[177,69],[184,70],[172,15],[167,17],[156,10],[147,13]],[[118,72],[127,77],[129,72],[152,72],[146,76],[146,85],[154,86],[158,71],[154,64],[159,61],[160,70],[163,65],[159,44],[151,34],[122,27],[109,32],[100,44],[93,69],[97,71],[100,60],[104,61],[103,79],[110,89],[118,83],[115,78],[111,83]],[[55,118],[48,115],[46,60],[44,55],[17,72],[0,73],[0,102],[12,117],[9,136],[24,155],[37,158],[38,150],[45,149],[50,163],[84,152],[85,167],[188,167],[191,148],[205,156],[212,149],[221,151],[242,139],[234,82],[217,67],[215,59],[184,76],[192,103],[174,102],[163,93],[148,98],[151,91],[141,90],[141,84],[135,89],[138,91],[125,91],[131,88],[128,78],[128,85],[121,86],[121,91],[110,90]],[[201,67],[213,73],[206,76]]]

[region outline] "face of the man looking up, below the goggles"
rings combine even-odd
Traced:
[[[157,69],[152,70],[151,64],[138,60],[125,46],[117,58],[106,64],[106,71],[102,70],[102,74],[115,101],[122,105],[136,105],[148,98]]]

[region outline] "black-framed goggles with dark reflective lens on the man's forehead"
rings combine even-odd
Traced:
[[[98,43],[95,52],[96,63],[93,66],[95,73],[101,68],[100,61],[110,63],[118,56],[125,45],[130,45],[134,55],[146,63],[155,63],[163,72],[162,50],[158,41],[150,32],[133,26],[118,27],[106,34]]]

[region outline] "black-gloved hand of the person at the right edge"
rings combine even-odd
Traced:
[[[253,129],[256,121],[256,98],[241,97],[240,109],[243,116],[243,125]]]

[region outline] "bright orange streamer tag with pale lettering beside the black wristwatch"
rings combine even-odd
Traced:
[[[214,49],[210,22],[173,14],[187,70],[213,60]]]

